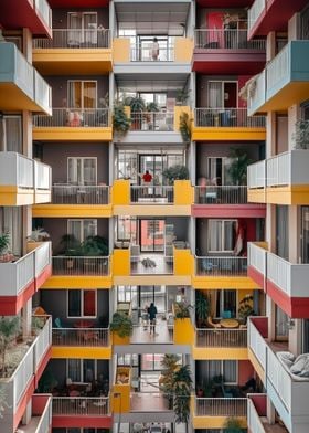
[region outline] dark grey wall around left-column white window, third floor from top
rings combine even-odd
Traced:
[[[97,182],[108,184],[108,146],[106,144],[74,142],[62,146],[61,144],[44,144],[43,162],[52,167],[53,183],[67,181],[68,157],[96,157]]]

